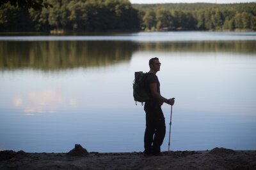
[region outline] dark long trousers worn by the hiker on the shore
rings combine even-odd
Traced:
[[[146,111],[146,129],[144,135],[145,153],[160,153],[166,132],[164,114],[161,106]]]

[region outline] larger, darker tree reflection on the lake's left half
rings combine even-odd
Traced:
[[[130,60],[129,41],[0,41],[1,69],[101,67]]]

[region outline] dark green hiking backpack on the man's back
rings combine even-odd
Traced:
[[[137,71],[134,73],[134,81],[133,81],[133,97],[134,101],[137,105],[137,101],[141,102],[143,106],[143,102],[150,101],[152,97],[147,90],[146,78],[150,73],[143,73],[142,71]]]

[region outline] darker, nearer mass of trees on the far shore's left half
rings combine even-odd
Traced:
[[[138,11],[128,0],[48,0],[52,8],[10,2],[0,8],[1,31],[109,31],[138,29]]]

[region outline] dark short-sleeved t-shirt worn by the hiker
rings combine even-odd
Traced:
[[[157,83],[157,92],[160,94],[160,82],[156,74],[149,73],[146,79],[148,93],[152,96],[150,92],[150,87],[149,87],[151,83]],[[159,106],[161,106],[161,104],[159,103],[159,100],[152,96],[152,100],[145,102],[144,110],[147,112],[150,110],[154,110]]]

